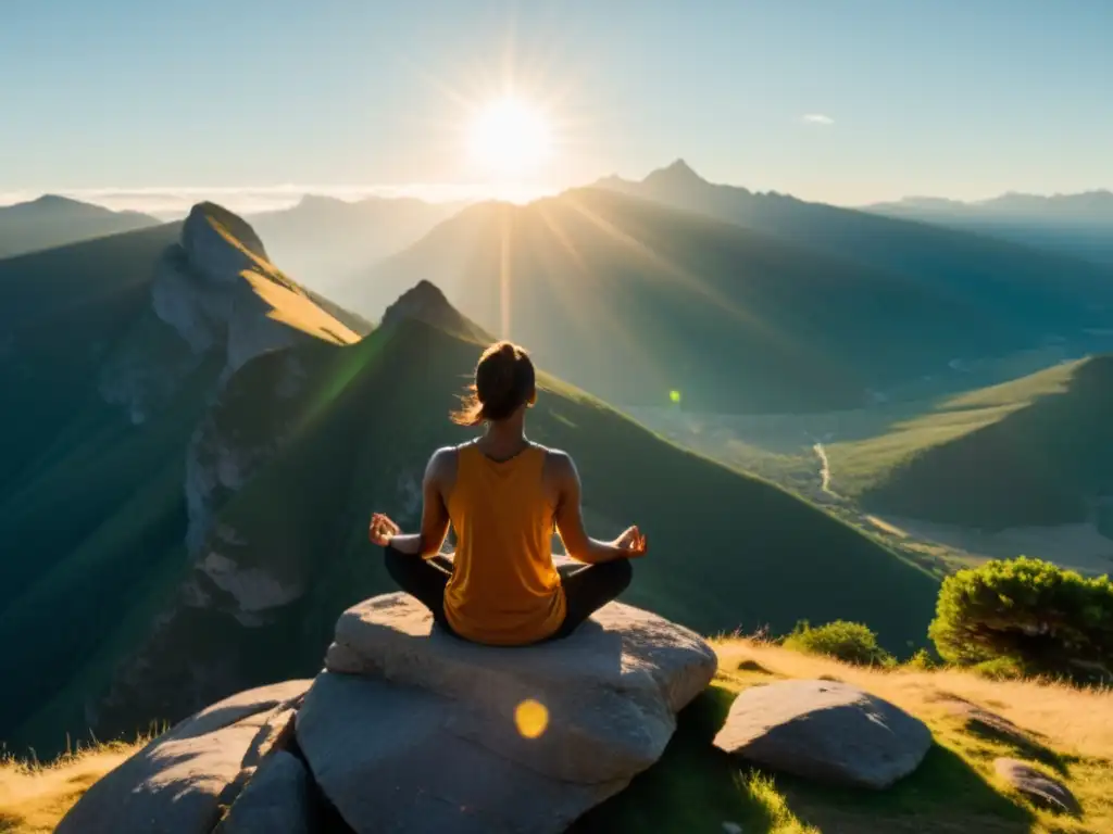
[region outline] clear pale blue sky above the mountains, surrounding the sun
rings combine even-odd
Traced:
[[[0,200],[482,187],[506,85],[553,126],[531,188],[1111,188],[1111,42],[1109,0],[0,2]]]

